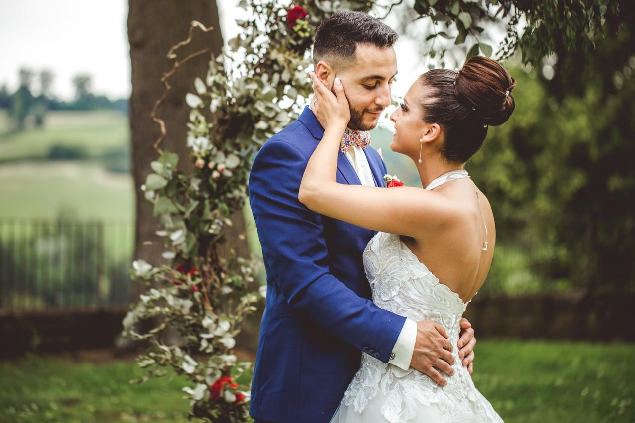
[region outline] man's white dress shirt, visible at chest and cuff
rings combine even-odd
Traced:
[[[361,147],[357,145],[351,145],[349,149],[344,153],[349,162],[351,162],[355,173],[359,177],[359,182],[365,187],[374,187],[375,180],[373,179],[373,173],[368,165],[368,159]],[[417,323],[411,319],[406,319],[401,333],[397,338],[397,342],[392,347],[391,359],[389,363],[398,366],[403,370],[408,370],[410,367],[410,361],[412,354],[415,351],[415,342],[417,341]]]

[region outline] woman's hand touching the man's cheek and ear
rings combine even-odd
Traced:
[[[313,82],[313,98],[311,100],[311,110],[318,118],[323,128],[329,125],[340,126],[342,130],[351,120],[349,102],[344,93],[344,86],[339,78],[335,78],[333,83],[333,94],[322,81],[311,72]]]

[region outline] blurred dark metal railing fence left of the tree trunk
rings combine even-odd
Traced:
[[[0,218],[0,311],[128,304],[133,243],[127,220]]]

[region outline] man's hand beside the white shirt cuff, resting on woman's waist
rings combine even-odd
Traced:
[[[445,328],[438,323],[430,320],[417,322],[417,342],[410,365],[441,386],[448,381],[439,371],[448,376],[454,374],[451,367],[454,364],[453,346],[448,338]]]

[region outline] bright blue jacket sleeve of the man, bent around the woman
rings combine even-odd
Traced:
[[[251,209],[270,276],[295,311],[387,363],[405,318],[359,297],[330,273],[322,216],[298,201],[306,164],[295,147],[272,140],[251,168]]]

